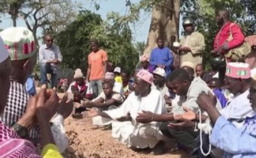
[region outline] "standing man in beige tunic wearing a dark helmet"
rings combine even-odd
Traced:
[[[205,43],[204,36],[194,31],[194,23],[191,19],[183,21],[185,36],[180,41],[180,64],[183,62],[192,62],[194,65],[202,63],[202,54]]]

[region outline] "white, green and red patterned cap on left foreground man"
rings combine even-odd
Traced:
[[[9,27],[0,32],[12,61],[24,60],[36,53],[33,33],[26,27]]]

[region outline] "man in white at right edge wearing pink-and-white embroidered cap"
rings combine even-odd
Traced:
[[[234,94],[231,101],[220,111],[220,114],[232,122],[237,128],[244,124],[246,117],[253,117],[256,112],[251,108],[247,96],[251,83],[249,64],[230,62],[225,73],[227,89]]]

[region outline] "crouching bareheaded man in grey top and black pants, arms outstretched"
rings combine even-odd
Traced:
[[[168,124],[170,122],[178,122],[186,127],[187,123],[190,122],[175,120],[176,115],[183,114],[184,107],[197,112],[199,110],[199,106],[196,102],[197,97],[201,92],[208,92],[211,91],[211,89],[201,78],[191,80],[191,76],[184,69],[175,69],[167,77],[166,86],[168,89],[171,89],[172,92],[180,96],[178,105],[173,107],[172,111],[168,114],[143,112],[143,114],[137,117],[137,122],[166,121],[160,126],[161,132],[173,141],[184,145],[187,149],[194,149],[198,132],[194,132],[193,128],[181,129],[168,126]],[[221,109],[219,101],[217,101],[216,106],[218,109]]]

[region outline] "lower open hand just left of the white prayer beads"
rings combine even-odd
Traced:
[[[179,119],[179,121],[181,122],[177,122],[177,123],[169,122],[168,127],[175,128],[178,130],[188,130],[188,129],[194,128],[195,126],[195,122],[188,119],[181,118]]]

